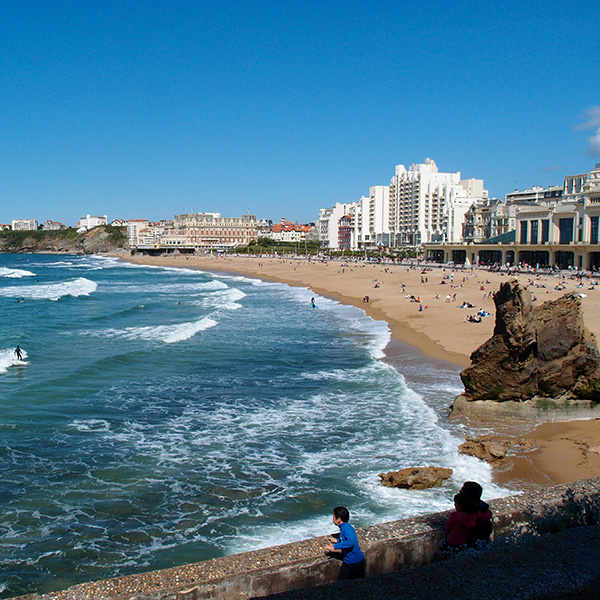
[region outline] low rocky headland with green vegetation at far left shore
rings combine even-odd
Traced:
[[[128,248],[127,237],[118,227],[110,225],[85,233],[77,233],[72,227],[57,231],[0,231],[0,252],[95,254]]]

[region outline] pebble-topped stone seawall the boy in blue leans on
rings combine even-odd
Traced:
[[[522,540],[600,524],[600,477],[490,502],[494,539]],[[367,575],[430,562],[449,512],[358,530]],[[333,532],[333,527],[332,531]],[[327,557],[327,536],[201,563],[89,582],[19,600],[247,600],[335,581],[339,561]],[[506,543],[504,544],[506,547]]]

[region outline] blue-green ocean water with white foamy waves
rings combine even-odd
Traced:
[[[446,510],[458,371],[307,289],[116,259],[0,255],[0,596]],[[18,345],[22,361],[14,355]],[[404,370],[404,372],[403,372]],[[436,464],[443,487],[381,471]]]

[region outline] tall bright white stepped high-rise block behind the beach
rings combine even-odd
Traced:
[[[397,165],[389,186],[373,186],[356,202],[320,210],[321,245],[361,250],[460,241],[469,208],[487,200],[482,179],[440,173],[430,158],[408,169]]]

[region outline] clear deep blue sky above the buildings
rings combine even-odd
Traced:
[[[433,158],[491,196],[600,162],[589,2],[0,8],[0,223],[308,222]]]

